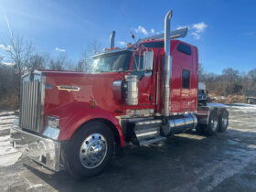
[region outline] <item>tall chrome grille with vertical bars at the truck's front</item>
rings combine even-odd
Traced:
[[[24,80],[21,90],[21,128],[40,131],[40,81]]]

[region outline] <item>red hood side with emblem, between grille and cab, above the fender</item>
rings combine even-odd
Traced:
[[[67,71],[45,71],[45,114],[61,115],[70,103],[89,103],[95,101],[102,110],[115,112],[121,110],[120,101],[112,91],[112,82],[123,80],[120,72],[86,74]]]

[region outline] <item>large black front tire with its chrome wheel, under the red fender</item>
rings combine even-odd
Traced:
[[[76,179],[100,174],[112,159],[114,138],[105,123],[86,123],[63,150],[63,164]]]

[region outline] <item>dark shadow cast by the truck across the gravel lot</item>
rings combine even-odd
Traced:
[[[237,130],[212,137],[193,132],[171,136],[160,144],[129,145],[125,147],[124,158],[113,157],[101,175],[83,181],[72,179],[65,171],[49,173],[36,164],[24,166],[59,191],[208,190],[230,174],[236,174],[222,165],[237,166],[238,161],[249,164],[246,158],[251,155],[250,146],[256,144],[254,138],[256,133]],[[215,174],[218,170],[223,173]],[[215,176],[220,176],[219,180]],[[235,188],[228,189],[235,191]]]

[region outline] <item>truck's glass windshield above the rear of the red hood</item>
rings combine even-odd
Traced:
[[[110,53],[93,58],[92,72],[125,71],[129,69],[132,52]]]

